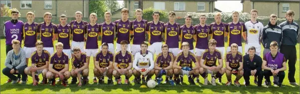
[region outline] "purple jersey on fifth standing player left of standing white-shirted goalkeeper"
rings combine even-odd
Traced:
[[[178,23],[174,23],[173,25],[168,23],[165,23],[163,25],[163,30],[164,30],[164,37],[166,38],[165,44],[169,46],[169,48],[179,48],[179,31],[180,25]]]

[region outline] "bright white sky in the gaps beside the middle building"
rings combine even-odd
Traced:
[[[123,5],[123,0],[118,0]],[[242,11],[243,4],[241,0],[218,0],[215,2],[215,8],[223,12]]]

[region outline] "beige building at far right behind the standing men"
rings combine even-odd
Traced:
[[[299,0],[241,0],[243,12],[250,13],[252,9],[258,10],[259,16],[276,14],[284,18],[288,10],[294,10],[295,19],[299,19]]]

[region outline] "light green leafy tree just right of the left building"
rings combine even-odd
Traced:
[[[105,1],[89,0],[89,14],[94,12],[97,14],[97,17],[104,17],[106,9]]]

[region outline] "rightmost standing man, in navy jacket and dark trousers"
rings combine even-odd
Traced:
[[[282,27],[283,40],[280,47],[280,52],[285,55],[286,61],[289,60],[289,81],[291,85],[298,86],[295,80],[296,61],[297,61],[297,37],[299,35],[299,25],[294,22],[295,12],[288,10],[286,13],[287,21],[282,22],[279,26]]]

